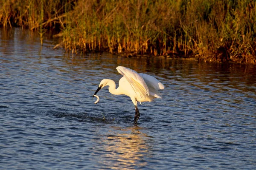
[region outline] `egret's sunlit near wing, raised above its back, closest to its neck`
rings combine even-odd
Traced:
[[[136,71],[131,70],[130,68],[118,66],[116,70],[127,79],[131,84],[131,87],[134,89],[137,95],[140,95],[145,99],[146,96],[149,96],[149,89],[144,79]],[[139,94],[138,94],[139,93]]]

